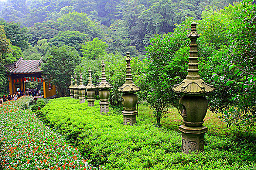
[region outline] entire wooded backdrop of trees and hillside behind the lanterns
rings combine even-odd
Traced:
[[[123,55],[130,51],[139,102],[154,108],[158,124],[169,107],[178,109],[173,85],[185,79],[190,23],[198,23],[200,76],[217,89],[210,109],[228,125],[256,122],[256,2],[253,0],[7,0],[0,3],[0,25],[10,41],[1,67],[25,59],[44,61],[44,78],[68,95],[70,75],[88,68],[93,83],[106,63],[113,85],[110,102],[121,103],[118,86],[125,75]],[[7,44],[6,44],[7,45]],[[59,61],[59,65],[53,62]],[[48,68],[49,67],[49,68]],[[65,72],[65,76],[60,74]],[[55,73],[56,74],[55,74]],[[58,74],[57,74],[58,73]],[[2,85],[8,86],[4,71]],[[53,77],[55,76],[55,77]],[[63,87],[62,87],[63,85]],[[60,87],[61,86],[61,87]],[[1,93],[6,92],[1,89]]]

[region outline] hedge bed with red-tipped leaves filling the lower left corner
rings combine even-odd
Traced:
[[[0,107],[1,166],[8,170],[93,169],[77,148],[45,126],[31,111],[24,110],[31,100],[28,96],[21,97]]]

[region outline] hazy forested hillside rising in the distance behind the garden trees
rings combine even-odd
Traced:
[[[186,17],[201,18],[205,7],[223,8],[234,0],[7,0],[0,3],[0,18],[29,27],[30,51],[47,42],[70,45],[98,37],[108,52],[144,53],[154,34],[173,32]],[[66,38],[71,35],[72,38]],[[78,39],[78,40],[77,40]],[[79,44],[76,49],[80,51]],[[36,47],[37,48],[37,47]],[[37,49],[38,50],[38,49]],[[81,54],[81,52],[80,52]],[[26,53],[27,55],[27,53]],[[35,56],[36,54],[34,54]],[[39,56],[39,55],[38,55]]]

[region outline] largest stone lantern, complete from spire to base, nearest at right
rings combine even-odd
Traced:
[[[202,126],[208,108],[208,101],[204,95],[211,93],[213,85],[206,84],[199,76],[197,57],[197,23],[191,23],[191,32],[187,35],[191,39],[189,51],[188,75],[180,84],[174,85],[173,91],[184,95],[180,100],[180,111],[184,125],[179,126],[182,133],[182,153],[204,151],[204,134],[207,127]]]

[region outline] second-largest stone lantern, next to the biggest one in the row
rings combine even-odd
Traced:
[[[125,83],[118,87],[118,91],[123,92],[122,104],[123,104],[123,124],[124,125],[134,125],[136,123],[136,115],[138,112],[136,109],[136,104],[138,102],[138,97],[135,92],[138,92],[140,88],[133,83],[132,72],[131,72],[131,58],[130,52],[126,53],[126,80]]]

